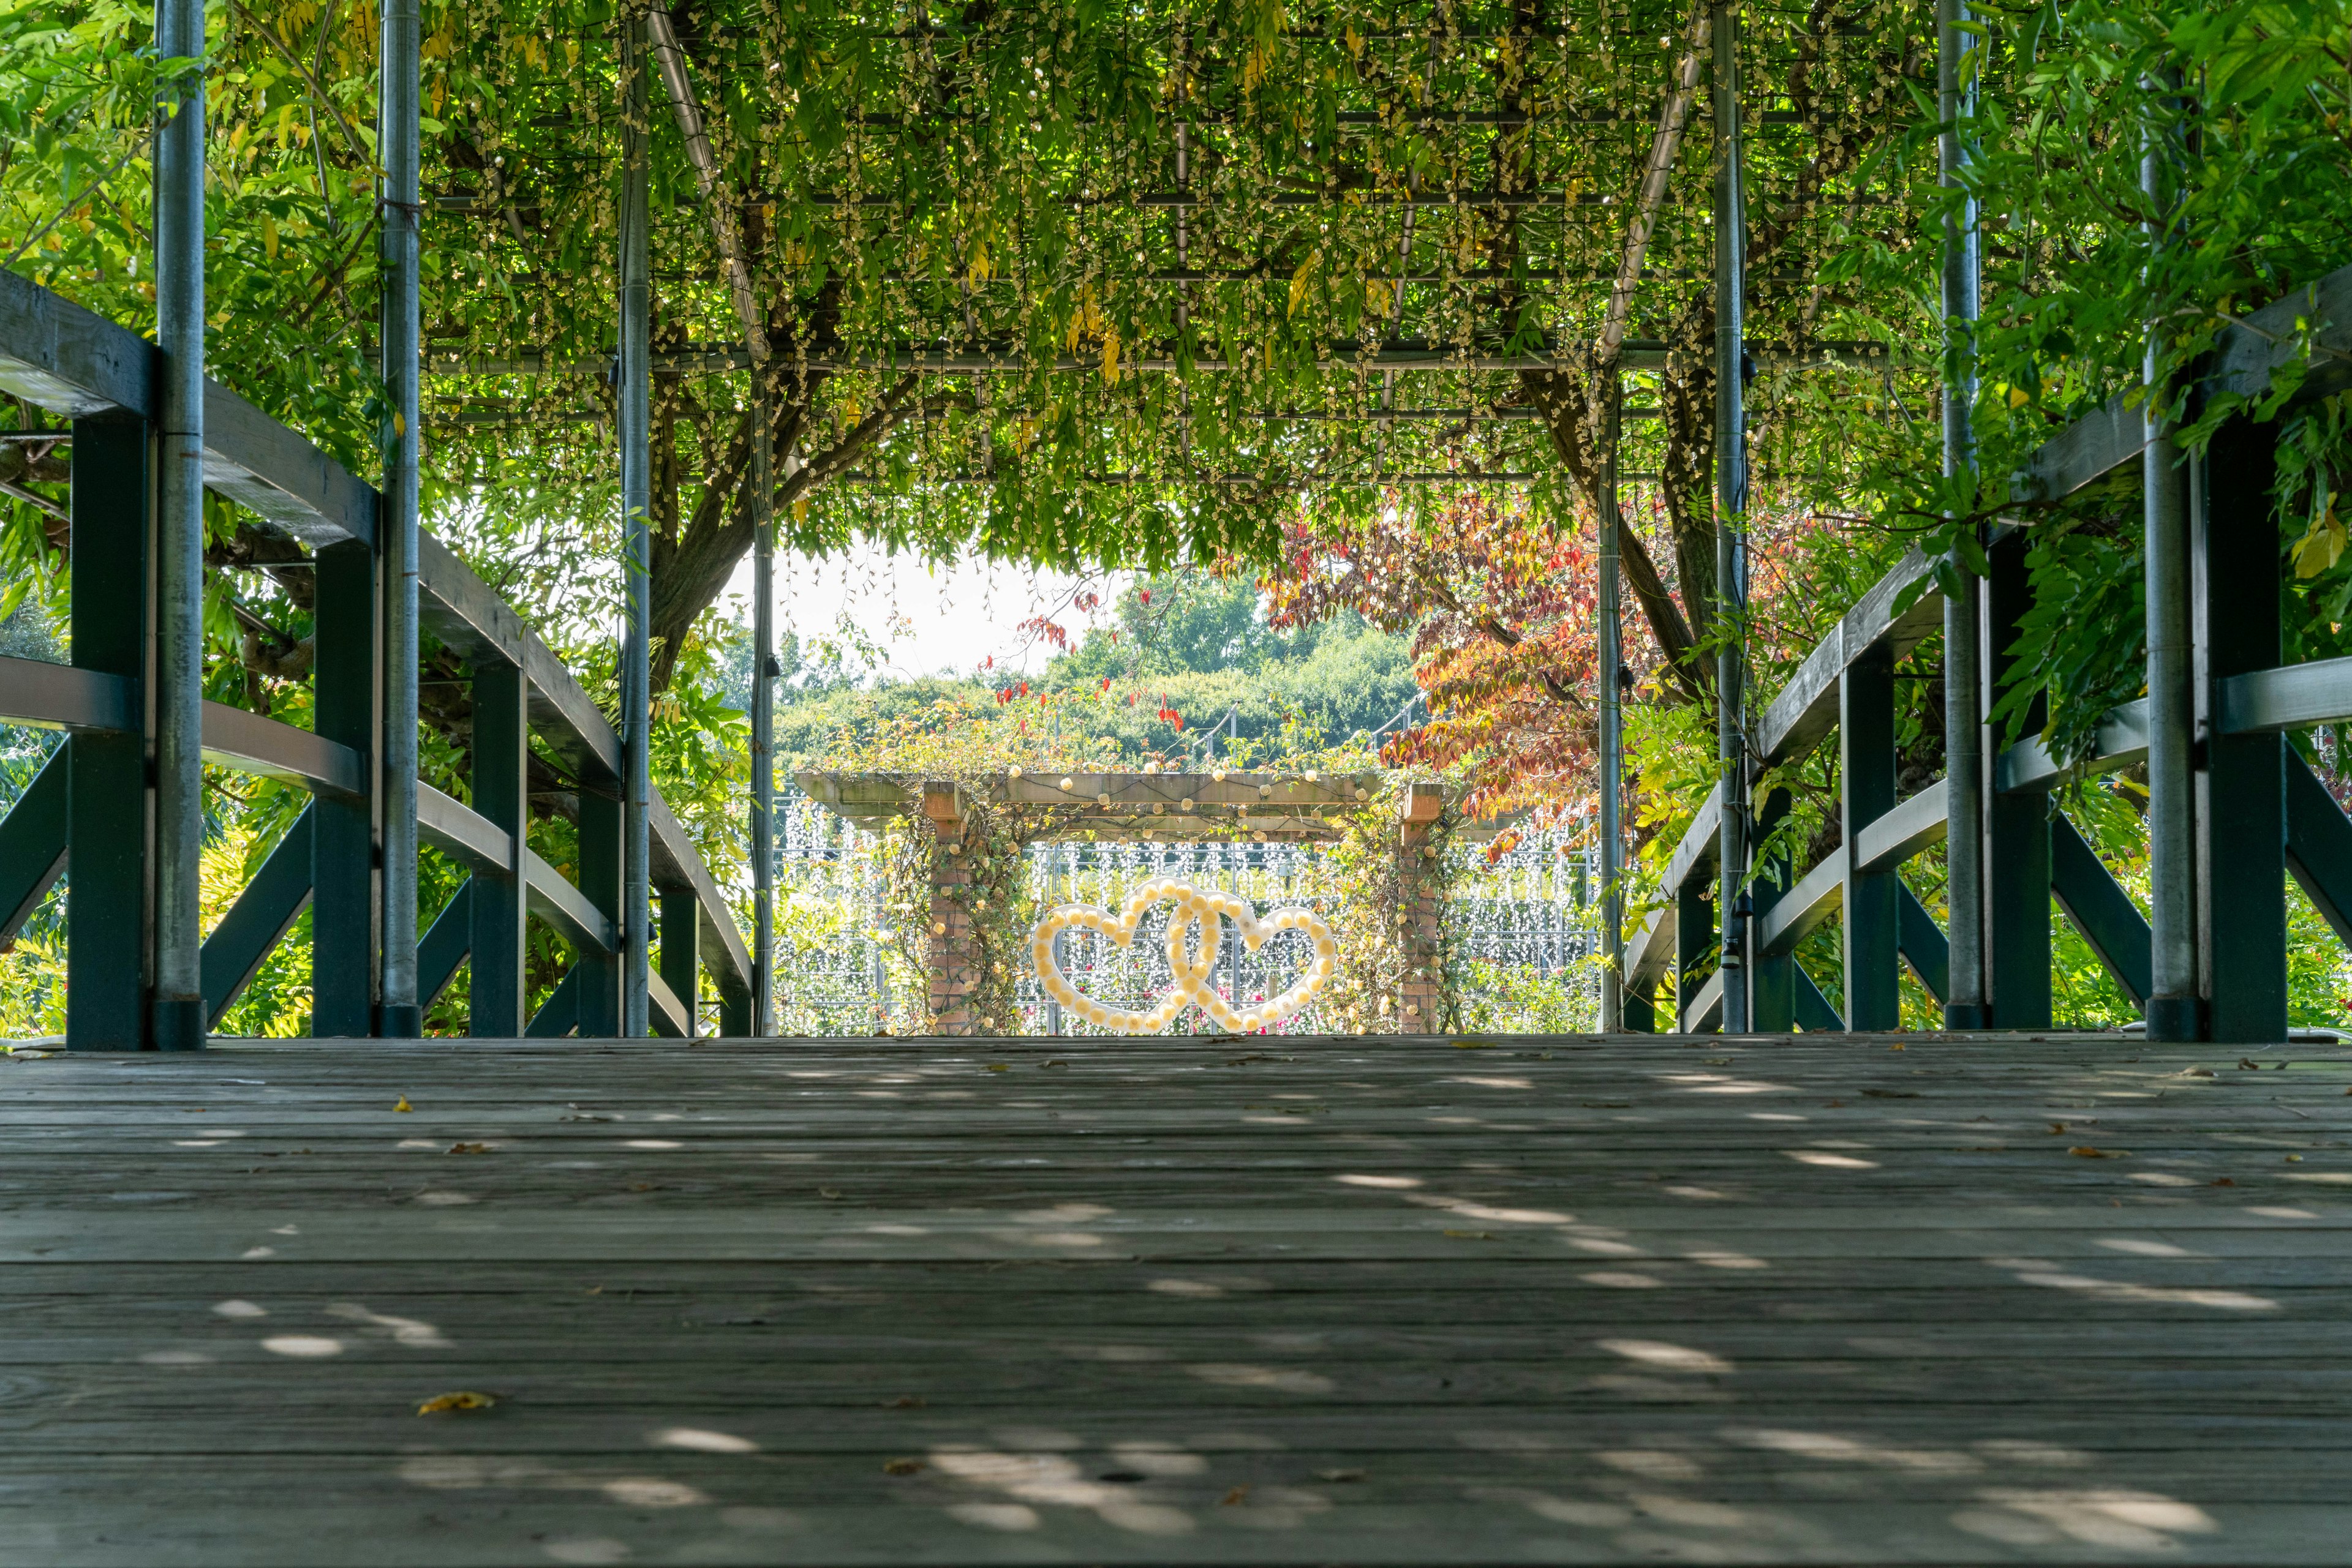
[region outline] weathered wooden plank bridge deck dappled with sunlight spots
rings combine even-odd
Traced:
[[[19,1056],[0,1563],[2345,1563],[2352,1051],[2246,1060]]]

